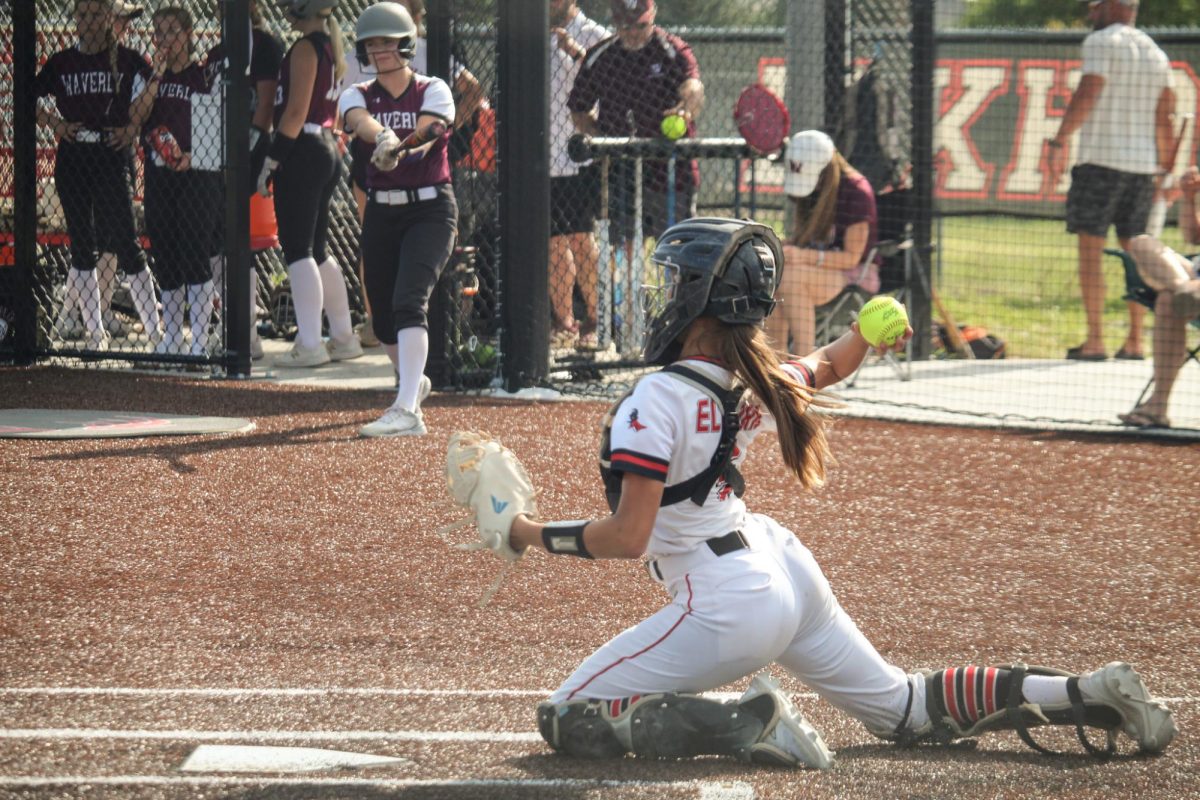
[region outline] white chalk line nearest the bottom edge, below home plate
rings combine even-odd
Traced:
[[[0,777],[0,787],[7,788],[44,788],[64,786],[98,787],[176,787],[217,788],[217,787],[337,787],[355,789],[412,789],[412,788],[542,788],[542,789],[694,789],[700,800],[754,800],[754,787],[742,781],[728,783],[715,781],[582,781],[582,780],[512,780],[512,781],[433,781],[415,778],[350,778],[350,777],[194,777],[185,775],[72,775],[72,776],[36,776],[18,775]]]

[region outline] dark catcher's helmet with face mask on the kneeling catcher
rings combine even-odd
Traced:
[[[779,236],[749,219],[696,217],[668,228],[650,257],[664,276],[665,297],[648,306],[643,357],[670,363],[679,335],[698,317],[728,325],[762,323],[775,307],[784,264]]]

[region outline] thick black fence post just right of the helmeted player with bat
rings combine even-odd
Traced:
[[[550,354],[550,14],[499,4],[497,25],[500,338],[509,391],[544,379]]]

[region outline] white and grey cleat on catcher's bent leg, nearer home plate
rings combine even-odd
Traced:
[[[833,751],[770,674],[755,675],[738,705],[763,718],[762,735],[749,750],[752,763],[818,770],[833,766]]]

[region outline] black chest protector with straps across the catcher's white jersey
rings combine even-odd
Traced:
[[[702,473],[680,481],[674,486],[668,486],[662,492],[662,500],[659,506],[674,505],[684,500],[691,500],[698,506],[704,505],[708,493],[712,491],[716,479],[724,479],[725,485],[733,489],[737,497],[745,493],[745,480],[742,473],[733,464],[733,447],[742,429],[742,419],[738,416],[738,404],[745,390],[740,386],[724,389],[708,375],[685,367],[682,363],[672,363],[664,367],[661,372],[671,375],[676,380],[682,380],[692,389],[697,389],[707,395],[721,409],[721,440],[716,445],[716,452],[708,462],[708,467]],[[600,477],[604,479],[605,499],[608,509],[613,512],[620,504],[620,479],[622,473],[612,469],[612,421],[617,416],[617,409],[625,402],[625,398],[634,392],[630,389],[620,399],[612,404],[604,417],[604,433],[600,437]]]

